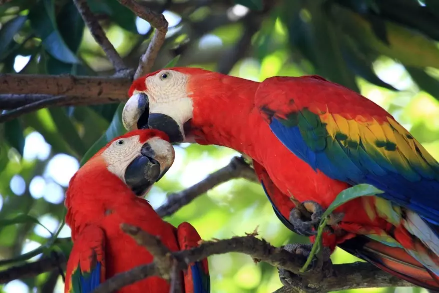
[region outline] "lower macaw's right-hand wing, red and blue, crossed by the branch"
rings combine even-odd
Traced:
[[[178,225],[177,239],[181,250],[197,247],[201,237],[188,222]],[[207,258],[190,264],[184,272],[185,293],[210,293],[210,276]]]

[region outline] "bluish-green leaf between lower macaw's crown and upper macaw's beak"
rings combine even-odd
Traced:
[[[84,165],[91,157],[93,157],[109,141],[127,132],[124,125],[122,124],[122,111],[124,110],[124,106],[125,103],[121,103],[119,105],[107,131],[92,145],[92,147],[84,155],[80,162],[81,166]]]

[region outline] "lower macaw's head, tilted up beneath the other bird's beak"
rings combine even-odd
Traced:
[[[114,176],[111,176],[113,179],[105,176],[111,173],[137,196],[143,196],[168,171],[174,157],[174,148],[166,133],[134,130],[110,141],[78,170],[75,177],[84,175],[80,177],[111,181]]]

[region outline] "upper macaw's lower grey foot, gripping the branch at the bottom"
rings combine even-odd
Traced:
[[[312,244],[287,244],[283,249],[308,257],[312,248]],[[332,274],[332,262],[330,259],[331,251],[324,247],[320,255],[313,257],[308,270],[303,274],[295,274],[289,270],[278,268],[279,278],[284,286],[298,286],[309,293],[319,291],[319,283],[323,278]]]

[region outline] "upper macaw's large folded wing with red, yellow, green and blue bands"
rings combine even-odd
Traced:
[[[275,136],[314,170],[372,184],[384,191],[378,196],[439,224],[439,164],[372,101],[318,76],[272,77],[259,86],[255,105]]]

